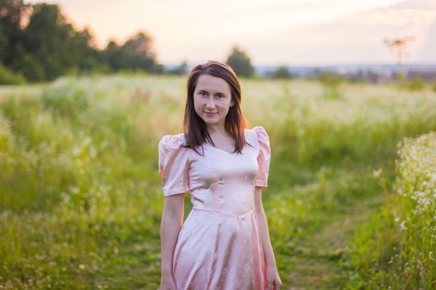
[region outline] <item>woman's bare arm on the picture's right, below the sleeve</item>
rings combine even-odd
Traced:
[[[281,287],[281,280],[279,276],[279,271],[277,271],[274,251],[272,250],[267,217],[265,215],[265,210],[263,209],[262,188],[256,187],[254,194],[255,194],[254,201],[256,207],[256,216],[257,216],[259,231],[260,231],[260,239],[262,241],[262,246],[263,246],[263,255],[265,256],[268,290],[272,290],[272,289],[279,290]]]

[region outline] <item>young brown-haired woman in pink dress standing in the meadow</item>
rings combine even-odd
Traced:
[[[159,142],[160,290],[281,287],[262,204],[269,139],[262,127],[247,129],[240,105],[231,67],[210,61],[192,69],[184,134]],[[187,192],[192,211],[183,223]]]

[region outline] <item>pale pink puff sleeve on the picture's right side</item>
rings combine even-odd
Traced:
[[[254,127],[251,129],[255,131],[258,137],[258,175],[256,178],[256,186],[268,186],[268,175],[270,173],[270,137],[263,127]]]

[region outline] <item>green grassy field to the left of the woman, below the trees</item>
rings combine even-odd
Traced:
[[[110,273],[118,259],[120,267],[131,256],[157,261],[156,146],[176,131],[167,122],[180,111],[159,81],[173,82],[65,79],[39,97],[3,100],[3,288],[120,289]],[[139,281],[149,284],[146,273]]]

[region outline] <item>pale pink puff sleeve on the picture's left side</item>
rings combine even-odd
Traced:
[[[187,148],[182,145],[180,134],[167,135],[159,141],[159,174],[165,196],[189,191]]]

